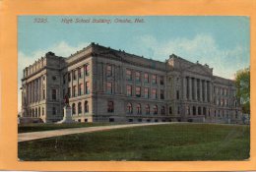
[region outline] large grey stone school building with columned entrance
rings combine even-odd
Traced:
[[[96,43],[64,58],[47,52],[24,69],[22,116],[77,122],[240,123],[234,82],[174,54],[165,62]]]

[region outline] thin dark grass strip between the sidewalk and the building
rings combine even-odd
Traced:
[[[81,127],[109,126],[116,124],[121,123],[19,124],[18,133],[40,132]]]

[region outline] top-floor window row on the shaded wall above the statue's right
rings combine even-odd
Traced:
[[[83,76],[87,77],[90,75],[90,65],[86,64],[84,67],[80,67],[76,70],[73,70],[72,72],[69,72],[67,77],[68,77],[68,82],[71,82],[71,75],[73,78],[73,81],[76,81],[77,78],[82,79]],[[63,76],[63,84],[66,84],[66,75]]]

